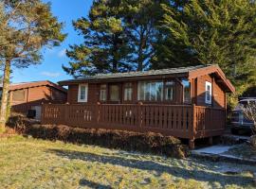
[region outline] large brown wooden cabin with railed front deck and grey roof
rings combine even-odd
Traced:
[[[45,105],[43,122],[153,131],[189,139],[221,135],[234,87],[218,65],[64,80],[67,104]]]

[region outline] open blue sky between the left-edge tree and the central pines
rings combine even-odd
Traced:
[[[72,21],[82,16],[86,17],[93,0],[43,1],[51,3],[53,15],[57,16],[60,22],[64,22],[64,33],[67,33],[68,36],[60,46],[43,51],[44,60],[42,60],[41,64],[31,65],[23,69],[13,68],[13,73],[11,74],[12,83],[38,80],[58,82],[72,78],[62,68],[63,64],[68,65],[69,59],[65,56],[65,49],[68,48],[68,45],[82,43],[82,37],[74,30]]]

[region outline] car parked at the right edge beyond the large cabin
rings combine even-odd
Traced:
[[[231,113],[231,133],[239,134],[240,131],[251,133],[254,129],[253,122],[248,120],[243,112],[243,107],[247,107],[248,104],[255,103],[256,97],[243,98],[239,101],[238,105]]]

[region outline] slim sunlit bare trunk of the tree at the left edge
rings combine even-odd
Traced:
[[[6,60],[3,80],[3,91],[0,110],[0,130],[4,130],[6,127],[8,98],[9,98],[9,74],[10,74],[10,60]]]

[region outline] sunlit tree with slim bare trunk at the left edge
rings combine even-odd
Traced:
[[[40,0],[3,0],[0,4],[0,61],[4,66],[0,129],[5,128],[11,67],[39,63],[41,49],[64,41],[63,24]]]

